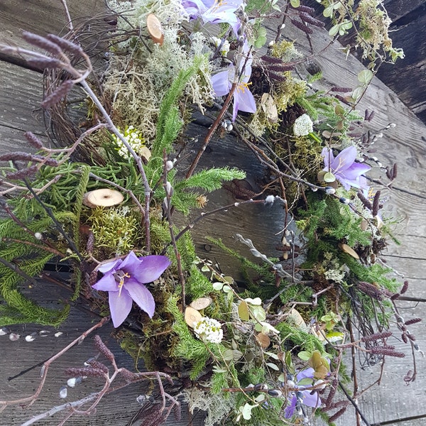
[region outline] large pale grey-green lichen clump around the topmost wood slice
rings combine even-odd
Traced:
[[[122,4],[116,7],[119,11],[124,10]],[[143,37],[147,36],[145,22],[148,12],[155,13],[163,23],[163,44],[153,43],[148,37],[143,43],[136,37],[121,43],[116,48],[117,53],[111,55],[104,89],[120,119],[125,124],[133,124],[150,143],[155,138],[163,96],[180,70],[189,69],[197,62],[197,72],[187,82],[182,105],[196,104],[204,111],[205,105],[212,102],[213,89],[211,66],[204,54],[207,39],[202,33],[193,33],[191,40],[181,38],[178,23],[185,14],[182,14],[180,2],[136,1],[133,9],[126,13],[128,23],[124,23],[123,28],[128,29],[130,23],[133,28],[140,28]]]

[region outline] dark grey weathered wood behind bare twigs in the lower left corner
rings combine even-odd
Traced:
[[[60,308],[61,304],[58,302],[61,290],[58,285],[48,281],[40,281],[36,292],[31,291],[31,295],[38,295],[37,301],[45,307]],[[63,296],[63,294],[62,294]],[[50,356],[58,353],[60,349],[67,346],[70,342],[80,336],[89,327],[92,327],[99,321],[96,315],[89,315],[88,312],[72,307],[70,317],[58,329],[53,327],[40,327],[34,324],[22,324],[11,326],[12,332],[21,335],[21,338],[16,342],[11,342],[8,336],[0,336],[0,359],[7,360],[7,363],[1,364],[0,374],[0,400],[11,400],[14,398],[23,398],[34,393],[35,389],[40,382],[40,366],[33,368],[33,370],[24,373],[23,375],[8,380],[9,377],[16,376],[21,371],[35,364],[45,361]],[[35,335],[33,342],[26,342],[25,337],[33,332],[40,332],[43,329],[48,332],[45,337]],[[61,386],[67,384],[67,379],[70,378],[65,374],[66,368],[82,367],[84,361],[97,356],[97,349],[94,348],[93,337],[99,334],[107,346],[114,352],[116,362],[119,367],[128,368],[130,371],[136,371],[133,360],[126,354],[120,347],[116,339],[111,337],[113,331],[112,325],[107,324],[101,329],[90,334],[87,339],[84,339],[82,344],[74,346],[67,351],[63,356],[55,361],[48,373],[48,379],[43,388],[40,398],[34,405],[28,408],[21,408],[19,405],[6,408],[4,412],[0,413],[0,425],[18,426],[22,422],[29,420],[33,415],[43,413],[56,405],[62,405],[66,402],[72,402],[84,398],[93,392],[99,392],[103,386],[102,378],[87,378],[80,385],[75,388],[67,389],[67,398],[60,399],[59,391]],[[62,332],[59,337],[55,337],[56,332]],[[99,361],[108,361],[101,355]],[[140,366],[139,366],[140,367]],[[112,368],[111,368],[112,370]],[[118,384],[115,383],[115,386]],[[99,405],[97,413],[90,417],[75,416],[70,420],[70,424],[78,426],[87,425],[126,425],[126,422],[139,410],[141,407],[136,398],[138,395],[148,393],[148,382],[139,385],[132,385],[124,388],[121,391],[107,395]],[[66,411],[58,413],[52,418],[46,418],[38,425],[58,425],[59,420],[63,417]],[[112,417],[111,417],[112,416]],[[114,419],[114,420],[111,420]],[[111,423],[112,422],[112,423]],[[168,425],[185,426],[189,422],[186,409],[182,409],[182,420],[176,421],[172,418],[167,423]]]

